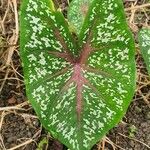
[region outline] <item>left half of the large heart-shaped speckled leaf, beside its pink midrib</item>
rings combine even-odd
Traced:
[[[50,10],[48,1],[34,2],[41,12],[28,10],[32,1],[26,0],[22,4],[20,19],[21,58],[27,96],[44,127],[68,147],[76,149],[79,147],[77,139],[73,140],[78,133],[76,108],[73,107],[76,90],[72,82],[66,85],[73,73],[76,45],[62,14]],[[70,94],[65,97],[66,92]],[[68,100],[72,100],[72,107]],[[61,109],[60,104],[64,105]]]

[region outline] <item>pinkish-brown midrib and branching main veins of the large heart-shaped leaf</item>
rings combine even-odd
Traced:
[[[76,83],[77,86],[77,94],[76,94],[76,113],[77,113],[77,120],[78,123],[80,125],[80,121],[81,121],[81,113],[82,113],[82,106],[83,106],[83,96],[82,96],[82,92],[83,92],[83,85],[90,85],[89,81],[83,76],[82,73],[82,66],[85,65],[90,53],[93,51],[91,45],[90,45],[90,40],[91,40],[91,32],[89,32],[89,36],[87,38],[87,42],[83,45],[82,47],[82,52],[80,54],[79,58],[74,58],[73,55],[70,54],[68,47],[64,41],[64,39],[62,38],[62,36],[60,35],[59,31],[56,30],[55,31],[55,35],[58,38],[58,40],[60,41],[60,43],[63,45],[64,48],[64,53],[59,53],[59,52],[55,52],[55,51],[49,51],[50,54],[59,57],[59,58],[63,58],[66,61],[70,62],[73,65],[73,74],[70,77],[70,79],[67,81],[67,83],[64,86],[64,89],[67,89],[68,86],[74,82]]]

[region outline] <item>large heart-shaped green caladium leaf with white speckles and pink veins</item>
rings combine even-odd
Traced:
[[[122,1],[92,0],[86,9],[76,38],[51,0],[24,0],[20,14],[28,99],[70,150],[90,150],[121,120],[135,90],[134,41]]]

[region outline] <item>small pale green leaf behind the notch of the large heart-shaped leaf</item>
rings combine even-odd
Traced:
[[[77,34],[80,33],[84,19],[93,0],[73,0],[68,8],[68,22]]]

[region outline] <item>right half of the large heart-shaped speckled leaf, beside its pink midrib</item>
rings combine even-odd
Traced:
[[[119,122],[135,91],[135,47],[121,1],[93,1],[79,35],[79,42],[82,49],[80,63],[85,66],[84,77],[88,80],[88,87],[92,87],[91,94],[99,97],[99,100],[95,99],[94,102],[93,97],[89,98],[89,101],[91,99],[93,102],[92,106],[89,106],[90,103],[85,104],[87,111],[83,114],[91,113],[92,110],[101,111],[102,108],[96,107],[98,103],[103,103],[108,109],[103,110],[103,117],[96,118],[96,112],[90,115],[88,113],[88,116],[84,117],[86,122],[90,122],[87,125],[89,131],[86,131],[90,137],[86,137],[86,146],[90,147],[90,144],[98,140],[98,136],[93,136],[94,134],[99,133],[100,138]],[[95,118],[93,122],[96,129],[90,117]],[[104,129],[98,127],[96,122],[99,120]]]

